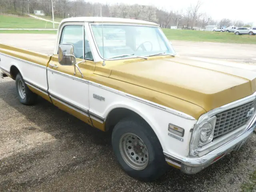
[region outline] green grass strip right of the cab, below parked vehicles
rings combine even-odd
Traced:
[[[175,29],[163,29],[163,31],[169,40],[256,44],[256,35]]]

